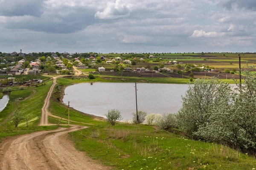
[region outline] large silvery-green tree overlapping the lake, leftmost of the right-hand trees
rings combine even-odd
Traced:
[[[182,96],[182,108],[177,114],[180,130],[192,139],[200,139],[196,132],[207,125],[215,109],[226,104],[223,100],[229,96],[226,94],[229,87],[228,83],[215,77],[210,80],[197,79],[194,86],[189,85],[185,96]]]

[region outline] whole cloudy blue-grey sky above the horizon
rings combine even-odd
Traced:
[[[2,52],[256,52],[256,0],[0,0]]]

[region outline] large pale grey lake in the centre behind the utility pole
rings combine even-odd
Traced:
[[[182,106],[181,95],[189,85],[137,84],[138,111],[150,113],[177,113]],[[123,120],[136,112],[135,83],[80,83],[67,87],[63,102],[78,111],[104,116],[110,109],[118,109]]]

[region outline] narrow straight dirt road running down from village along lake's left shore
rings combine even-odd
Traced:
[[[58,77],[60,77],[60,76],[58,76]],[[41,116],[41,120],[40,120],[40,124],[39,124],[40,126],[49,125],[48,115],[50,115],[51,113],[49,113],[48,108],[49,108],[49,105],[50,105],[50,98],[52,96],[52,92],[54,90],[55,85],[57,84],[56,79],[58,77],[52,77],[53,84],[52,84],[50,90],[48,91],[48,94],[47,94],[46,98],[44,99],[44,106],[42,108],[42,116]]]

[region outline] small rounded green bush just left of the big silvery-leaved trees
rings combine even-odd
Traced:
[[[171,130],[171,128],[177,127],[175,114],[163,114],[159,121],[157,121],[156,126],[161,130]]]

